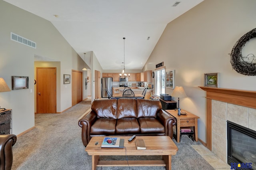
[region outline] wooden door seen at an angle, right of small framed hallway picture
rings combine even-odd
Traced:
[[[72,106],[82,101],[82,71],[72,70]]]

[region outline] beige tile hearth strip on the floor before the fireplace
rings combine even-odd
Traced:
[[[230,170],[230,165],[223,162],[204,145],[191,145],[215,170]]]

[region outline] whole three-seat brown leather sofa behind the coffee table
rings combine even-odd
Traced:
[[[176,120],[162,110],[160,101],[95,100],[91,109],[78,121],[84,146],[93,136],[173,136],[172,127]]]

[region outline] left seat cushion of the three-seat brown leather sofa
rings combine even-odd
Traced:
[[[116,133],[116,119],[99,118],[91,127],[90,134],[114,135]]]

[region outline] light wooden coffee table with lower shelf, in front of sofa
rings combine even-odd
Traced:
[[[105,136],[106,137],[106,136]],[[131,136],[109,136],[124,138],[125,148],[101,148],[104,136],[94,136],[86,146],[86,152],[92,155],[92,170],[97,166],[166,166],[166,170],[171,170],[171,156],[178,151],[169,136],[136,136],[134,140],[128,142]],[[146,150],[137,150],[135,140],[143,139]],[[95,143],[98,141],[98,145]],[[162,155],[162,160],[99,160],[101,155]]]

